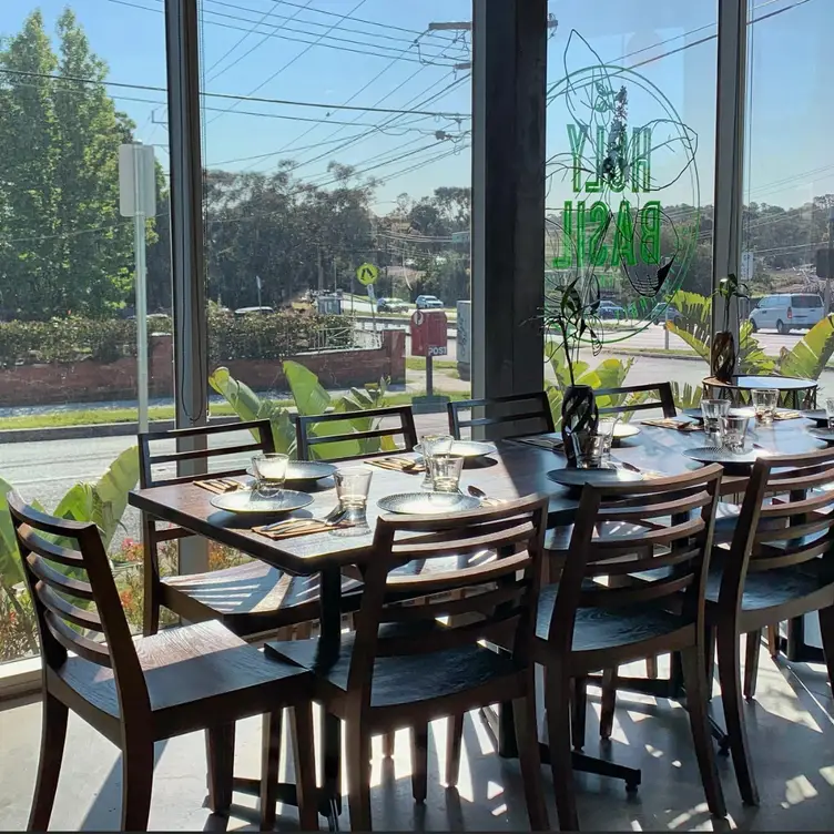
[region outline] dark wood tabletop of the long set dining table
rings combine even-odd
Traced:
[[[675,475],[701,466],[682,455],[683,450],[703,445],[703,434],[682,433],[669,428],[640,426],[640,434],[621,441],[612,450],[614,460],[628,462],[642,470]],[[780,420],[772,427],[755,427],[752,441],[775,454],[796,454],[822,448],[824,443],[808,435],[808,420]],[[578,494],[560,487],[548,478],[548,472],[565,467],[559,452],[536,448],[512,440],[502,441],[498,452],[482,462],[464,470],[461,488],[469,485],[482,489],[489,497],[512,499],[540,492],[550,497],[550,526],[570,523],[578,506]],[[395,492],[420,490],[423,474],[391,471],[373,467],[374,477],[368,498],[368,523],[364,535],[343,535],[349,531],[329,531],[273,541],[256,533],[252,527],[268,523],[274,517],[233,516],[211,505],[212,494],[193,484],[154,487],[131,492],[130,504],[157,519],[228,545],[237,550],[297,576],[311,576],[322,570],[347,565],[362,565],[370,557],[373,529],[383,515],[377,501]],[[728,475],[722,482],[722,494],[733,495],[744,490],[743,474]],[[336,494],[330,478],[319,481],[312,494],[314,501],[293,516],[322,518],[336,506]]]

